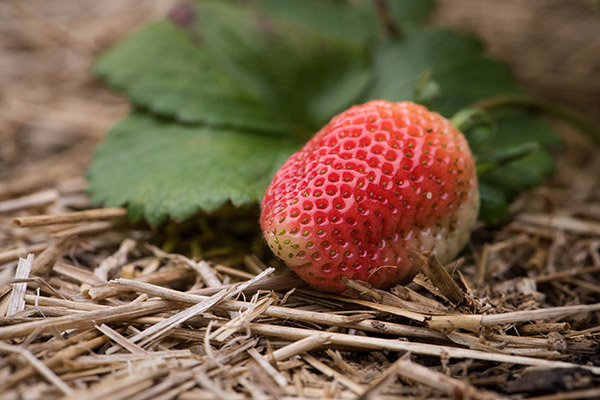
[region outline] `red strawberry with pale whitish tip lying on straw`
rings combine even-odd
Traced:
[[[478,209],[462,133],[420,105],[376,100],[334,117],[286,161],[263,199],[261,227],[302,279],[340,292],[342,277],[376,288],[411,280],[410,251],[450,261]]]

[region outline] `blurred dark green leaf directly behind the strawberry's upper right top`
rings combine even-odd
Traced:
[[[519,93],[508,69],[484,58],[477,40],[445,29],[407,29],[400,40],[381,42],[373,67],[365,99],[412,100],[415,83],[429,70],[440,90],[431,107],[447,117],[476,100]]]

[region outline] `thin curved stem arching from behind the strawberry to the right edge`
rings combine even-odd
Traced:
[[[480,110],[489,110],[507,106],[531,107],[558,117],[570,123],[573,127],[577,128],[580,132],[590,138],[597,146],[600,146],[600,130],[598,130],[590,120],[571,108],[560,106],[551,101],[509,94],[479,100],[471,104],[470,107]]]

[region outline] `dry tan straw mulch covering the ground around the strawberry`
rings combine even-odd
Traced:
[[[600,157],[567,126],[510,221],[386,292],[305,286],[256,209],[152,228],[91,207],[127,104],[89,66],[168,6],[0,4],[0,398],[600,398]]]

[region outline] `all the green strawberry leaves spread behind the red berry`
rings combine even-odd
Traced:
[[[204,0],[124,39],[95,70],[135,110],[95,153],[93,199],[127,204],[152,223],[252,203],[293,151],[352,104],[422,100],[450,117],[520,93],[479,42],[419,25],[432,1],[388,2],[399,37],[389,37],[374,3]],[[552,170],[546,146],[556,137],[522,109],[495,110],[489,120],[493,129],[467,132],[488,159],[540,144],[480,175],[480,217],[493,221]]]

